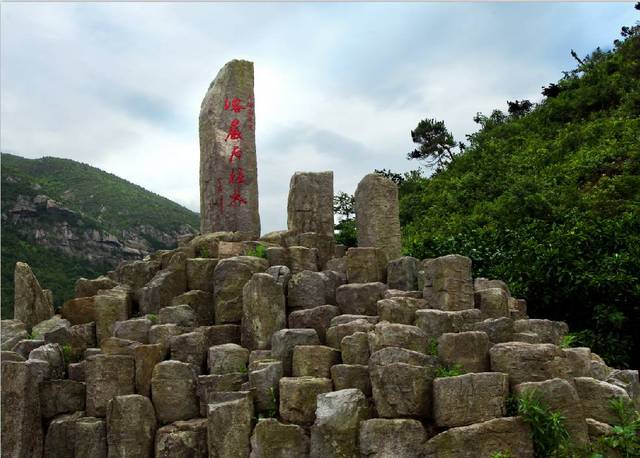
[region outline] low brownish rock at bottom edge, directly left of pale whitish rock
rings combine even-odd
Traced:
[[[305,458],[309,438],[304,428],[280,423],[275,418],[258,420],[251,436],[250,458]]]

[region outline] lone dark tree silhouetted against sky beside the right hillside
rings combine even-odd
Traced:
[[[461,144],[456,143],[453,134],[444,125],[444,121],[424,119],[411,131],[411,139],[419,146],[407,154],[407,159],[425,161],[427,167],[443,169],[455,156],[455,149]]]

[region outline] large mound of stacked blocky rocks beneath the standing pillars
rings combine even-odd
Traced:
[[[389,288],[374,248],[323,270],[303,235],[198,236],[80,280],[92,295],[36,339],[3,321],[3,455],[533,457],[512,395],[539,391],[583,445],[618,421],[611,399],[640,407],[637,371],[560,347],[564,323],[474,285],[468,258],[393,259]],[[151,285],[167,305],[133,316]]]

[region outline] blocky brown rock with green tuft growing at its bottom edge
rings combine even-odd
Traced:
[[[438,356],[449,367],[465,372],[489,370],[489,336],[480,331],[446,333],[438,338]]]

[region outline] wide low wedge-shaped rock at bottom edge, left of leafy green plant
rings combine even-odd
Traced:
[[[495,418],[469,426],[451,428],[431,438],[421,456],[477,458],[489,457],[497,452],[518,458],[533,458],[533,442],[529,428],[521,418]]]

